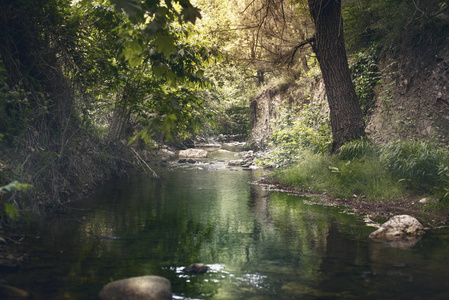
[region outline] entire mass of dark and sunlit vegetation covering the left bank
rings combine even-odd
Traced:
[[[198,18],[187,0],[2,1],[0,186],[35,187],[16,206],[69,202],[123,173],[131,138],[183,138],[208,122],[204,70],[219,56]],[[0,210],[12,199],[0,193]]]

